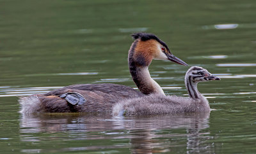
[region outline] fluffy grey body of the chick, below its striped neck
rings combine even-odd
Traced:
[[[163,115],[168,113],[209,112],[210,106],[204,96],[200,99],[176,95],[151,94],[128,99],[115,104],[113,115]]]

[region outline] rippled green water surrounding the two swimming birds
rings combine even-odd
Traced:
[[[255,13],[253,0],[1,0],[0,153],[255,153]],[[135,88],[127,51],[138,31],[221,78],[198,87],[210,115],[18,113],[19,95],[77,83]],[[150,66],[166,94],[182,96],[187,70],[159,60]]]

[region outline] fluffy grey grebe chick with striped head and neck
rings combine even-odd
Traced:
[[[209,113],[207,99],[198,92],[197,83],[220,80],[202,67],[193,66],[187,71],[185,84],[189,97],[150,94],[135,99],[127,99],[115,104],[112,115],[161,115],[168,113]]]

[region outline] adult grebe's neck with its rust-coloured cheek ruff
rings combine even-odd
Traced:
[[[129,50],[128,62],[132,80],[143,94],[164,94],[162,88],[154,81],[148,72],[154,52],[157,50],[157,41],[141,41],[137,39]]]

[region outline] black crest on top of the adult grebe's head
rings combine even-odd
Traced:
[[[157,36],[154,35],[154,34],[150,34],[150,33],[146,33],[146,32],[136,32],[136,33],[132,34],[131,36],[134,39],[141,39],[141,41],[147,41],[149,39],[155,39],[161,45],[163,45],[166,49],[169,50],[168,46],[164,43],[164,41],[162,41],[161,39],[157,38]]]

